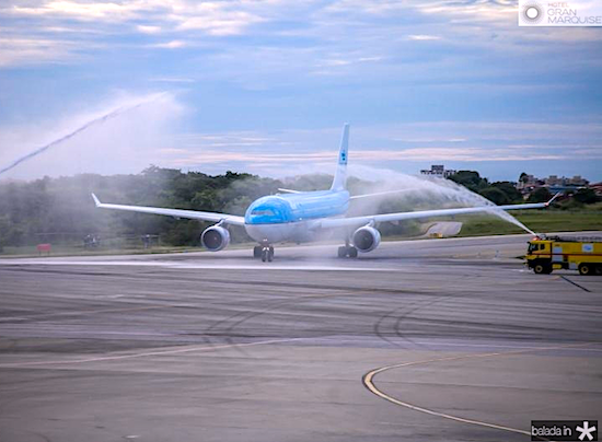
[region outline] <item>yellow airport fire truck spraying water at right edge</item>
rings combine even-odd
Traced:
[[[571,269],[602,275],[602,237],[536,236],[529,242],[525,258],[535,274]]]

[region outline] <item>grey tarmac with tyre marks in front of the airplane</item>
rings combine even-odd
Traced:
[[[525,441],[531,420],[602,421],[602,278],[528,271],[529,237],[0,259],[0,441]]]

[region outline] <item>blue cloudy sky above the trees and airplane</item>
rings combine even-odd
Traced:
[[[332,172],[348,121],[351,164],[602,181],[602,28],[517,14],[506,0],[0,0],[0,168],[118,111],[0,178]]]

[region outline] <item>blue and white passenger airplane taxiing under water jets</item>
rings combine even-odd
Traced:
[[[369,253],[375,249],[381,242],[378,223],[387,221],[403,221],[420,218],[444,217],[495,210],[541,209],[559,195],[555,195],[547,202],[482,206],[458,209],[420,210],[413,212],[368,214],[360,217],[345,217],[349,202],[357,198],[366,198],[393,191],[350,196],[347,190],[347,161],[349,146],[349,124],[343,127],[343,137],[338,152],[338,162],[333,184],[328,190],[298,191],[278,189],[280,193],[256,199],[248,206],[244,217],[202,212],[196,210],[167,209],[158,207],[123,206],[104,203],[92,194],[97,208],[126,210],[142,213],[164,214],[174,218],[185,218],[215,222],[200,235],[201,244],[210,252],[219,252],[230,244],[230,225],[241,225],[248,236],[258,245],[253,249],[255,258],[265,261],[274,259],[274,244],[281,242],[306,243],[324,239],[324,234],[338,235],[345,245],[338,247],[338,257],[356,258],[359,253]],[[401,191],[401,190],[400,190]]]

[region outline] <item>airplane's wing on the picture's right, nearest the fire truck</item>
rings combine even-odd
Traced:
[[[507,205],[507,206],[482,206],[482,207],[463,207],[459,209],[436,209],[436,210],[419,210],[415,212],[397,212],[397,213],[383,213],[383,214],[371,214],[363,217],[351,217],[351,218],[332,218],[320,220],[314,225],[315,228],[322,229],[334,229],[334,228],[359,228],[361,225],[368,224],[370,222],[386,222],[386,221],[402,221],[402,220],[413,220],[419,218],[431,218],[431,217],[445,217],[450,214],[466,214],[466,213],[493,213],[499,210],[522,210],[522,209],[543,209],[549,206],[549,203],[556,199],[559,194],[556,194],[547,202],[536,202],[529,205]]]

